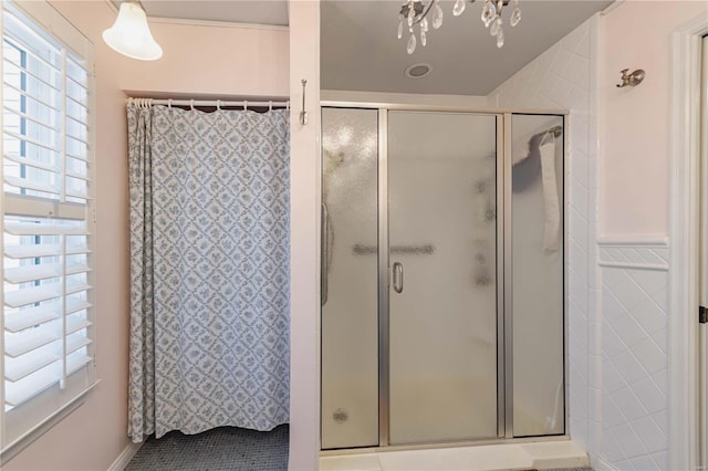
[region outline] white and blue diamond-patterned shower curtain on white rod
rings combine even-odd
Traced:
[[[288,112],[127,117],[128,435],[288,422]]]

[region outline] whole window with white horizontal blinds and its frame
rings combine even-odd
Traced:
[[[6,0],[0,19],[6,458],[95,383],[93,61],[49,3]]]

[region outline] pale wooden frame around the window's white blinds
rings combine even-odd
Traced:
[[[21,212],[22,216],[31,216],[37,218],[53,218],[53,219],[74,219],[83,220],[87,231],[86,244],[86,264],[88,271],[85,272],[86,283],[91,286],[86,291],[87,302],[92,307],[86,310],[86,317],[91,325],[86,327],[86,337],[92,341],[87,346],[88,356],[93,358],[85,368],[81,368],[84,373],[82,375],[67,375],[64,381],[64,388],[60,388],[59,383],[54,383],[52,386],[41,390],[41,393],[34,395],[31,399],[23,404],[20,404],[9,411],[6,410],[6,378],[4,378],[4,289],[0,293],[0,302],[3,305],[3,314],[0,315],[0,350],[2,350],[2,358],[0,358],[0,378],[2,385],[0,387],[0,467],[10,460],[13,456],[20,452],[29,443],[34,441],[46,430],[53,427],[56,422],[69,416],[73,410],[80,407],[86,395],[97,385],[96,374],[96,230],[95,230],[95,198],[96,198],[96,156],[95,156],[95,62],[94,62],[94,45],[84,36],[75,27],[73,27],[69,20],[66,20],[59,11],[56,11],[46,1],[32,1],[32,2],[17,2],[13,0],[3,0],[2,8],[0,8],[0,31],[2,31],[2,41],[6,41],[4,30],[4,10],[6,4],[11,4],[10,8],[18,10],[23,15],[28,17],[30,21],[35,23],[45,36],[52,36],[54,41],[62,44],[67,51],[71,51],[73,55],[80,57],[83,61],[83,66],[86,71],[86,134],[85,140],[87,146],[86,151],[86,193],[87,199],[85,205],[74,203],[70,201],[55,201],[45,198],[30,197],[27,195],[13,195],[3,191],[0,192],[0,207],[2,208],[2,223],[3,228],[0,230],[0,245],[4,248],[4,218],[7,214],[15,214]],[[23,51],[21,45],[11,41],[9,43],[12,48],[20,51],[21,55],[27,57],[28,52]],[[0,75],[4,81],[4,53],[0,50]],[[27,60],[27,59],[25,59]],[[66,64],[65,64],[66,65]],[[23,75],[23,74],[22,74]],[[64,82],[64,90],[67,90],[65,84],[69,78],[67,65],[61,71],[61,76]],[[23,78],[27,85],[27,77]],[[2,96],[2,90],[0,88],[0,97]],[[24,106],[27,107],[27,97]],[[4,105],[4,101],[3,101]],[[67,139],[67,125],[66,125],[66,103],[62,103],[63,122],[61,123],[60,139],[64,142]],[[21,118],[21,123],[25,118]],[[0,125],[4,133],[4,112],[0,114]],[[20,134],[27,136],[27,124],[24,130]],[[3,139],[4,140],[4,139]],[[4,167],[4,154],[3,154],[3,140],[0,140],[0,155],[3,156]],[[64,150],[66,148],[64,147]],[[60,150],[61,153],[61,150]],[[64,155],[69,153],[64,151]],[[63,158],[63,161],[66,157]],[[0,175],[3,171],[0,167]],[[21,164],[21,168],[24,165]],[[67,186],[66,165],[63,164],[60,175],[62,188]],[[71,177],[70,177],[71,178]],[[3,177],[2,177],[3,179]],[[21,211],[13,210],[12,208],[21,208]],[[62,251],[62,255],[66,257],[67,252]],[[4,253],[0,257],[3,261],[4,270]],[[66,291],[62,292],[62,295],[66,295]],[[64,318],[69,314],[64,313]],[[66,336],[66,334],[63,334]],[[66,358],[69,353],[63,350],[62,358]],[[12,433],[9,433],[8,429],[12,428]],[[20,432],[18,432],[20,430]]]

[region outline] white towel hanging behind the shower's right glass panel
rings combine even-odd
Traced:
[[[543,231],[543,249],[556,251],[561,239],[561,208],[558,199],[555,181],[555,139],[539,146],[541,154],[541,176],[543,180],[543,208],[545,228]]]

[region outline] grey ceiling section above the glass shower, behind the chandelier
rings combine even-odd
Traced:
[[[408,55],[404,31],[396,38],[399,1],[323,0],[321,18],[322,88],[367,92],[486,96],[507,78],[612,1],[521,0],[521,22],[508,25],[502,49],[480,21],[482,2],[452,15],[454,1],[441,0],[444,22],[430,28],[428,44]],[[511,9],[509,9],[511,10]],[[407,66],[428,63],[421,78]]]

